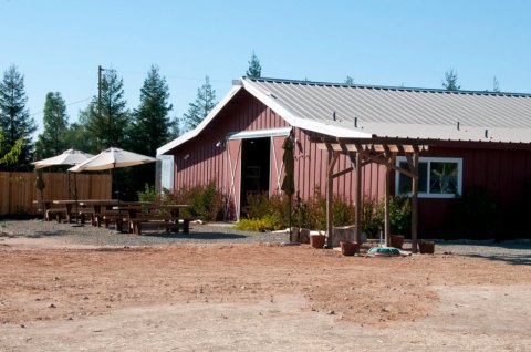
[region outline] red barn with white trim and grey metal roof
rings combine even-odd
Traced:
[[[452,199],[468,187],[488,189],[509,208],[522,201],[531,183],[531,94],[243,77],[197,128],[157,154],[174,157],[174,189],[215,180],[230,200],[228,217],[237,220],[247,193],[280,193],[288,135],[295,142],[295,189],[302,198],[316,186],[326,189],[330,152],[320,138],[428,144],[418,167],[420,235],[444,235]],[[334,173],[351,165],[344,152]],[[404,153],[395,152],[393,162],[405,165]],[[367,164],[362,173],[363,195],[382,197],[385,167]],[[355,173],[334,179],[333,193],[353,203],[355,189]],[[409,193],[410,179],[396,173],[391,190]]]

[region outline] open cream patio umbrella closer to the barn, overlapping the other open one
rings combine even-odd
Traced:
[[[148,163],[154,163],[156,161],[157,161],[156,158],[150,156],[127,152],[121,148],[111,147],[91,157],[84,163],[81,163],[74,167],[71,167],[69,170],[74,173],[84,172],[84,170],[86,172],[96,172],[96,170],[105,170],[105,169],[113,170],[118,167],[148,164]],[[118,200],[119,200],[119,187],[118,187],[117,180],[116,180],[116,191],[118,194]]]

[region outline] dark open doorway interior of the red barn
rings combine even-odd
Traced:
[[[269,191],[271,138],[243,139],[241,151],[241,208],[250,194]]]

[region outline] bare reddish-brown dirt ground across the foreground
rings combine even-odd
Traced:
[[[308,245],[0,245],[1,351],[531,351],[531,266]]]

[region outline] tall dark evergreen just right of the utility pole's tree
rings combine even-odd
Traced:
[[[169,87],[156,65],[152,65],[140,89],[140,104],[133,113],[129,133],[132,149],[154,156],[169,141],[171,121],[168,113]]]

